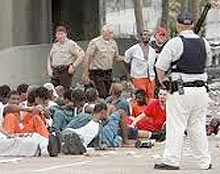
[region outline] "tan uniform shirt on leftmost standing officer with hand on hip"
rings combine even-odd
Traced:
[[[64,43],[56,42],[50,51],[51,65],[69,65],[84,55],[84,51],[76,42],[67,39]]]

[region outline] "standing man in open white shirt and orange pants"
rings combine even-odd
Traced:
[[[141,33],[140,43],[135,44],[125,51],[126,63],[131,64],[130,73],[134,86],[146,92],[147,99],[151,99],[155,88],[154,62],[157,54],[149,45],[150,32],[144,30]]]

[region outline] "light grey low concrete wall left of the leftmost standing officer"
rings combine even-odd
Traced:
[[[18,46],[0,51],[0,85],[42,84],[48,80],[46,60],[50,45]]]

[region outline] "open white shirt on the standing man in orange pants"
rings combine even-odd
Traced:
[[[124,61],[131,63],[131,77],[149,78],[155,77],[154,63],[156,58],[157,54],[151,46],[149,46],[148,59],[146,60],[140,44],[135,44],[125,51]]]

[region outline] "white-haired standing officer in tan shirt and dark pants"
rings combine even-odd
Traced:
[[[118,60],[118,46],[113,39],[112,25],[102,28],[102,35],[93,39],[87,48],[84,62],[83,83],[89,78],[95,83],[99,96],[106,98],[112,83],[112,65]]]

